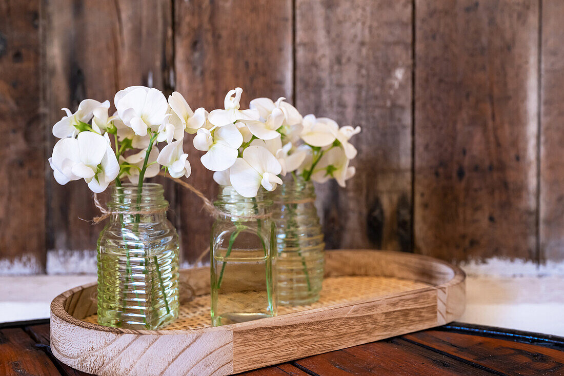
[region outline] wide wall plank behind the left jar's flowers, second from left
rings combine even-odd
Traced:
[[[56,0],[45,2],[42,15],[43,95],[48,111],[44,129],[49,154],[56,141],[52,125],[64,115],[61,107],[74,111],[85,98],[113,102],[113,95],[130,85],[153,86],[165,94],[169,90],[172,26],[168,0]],[[103,225],[80,220],[99,214],[90,190],[82,181],[60,186],[48,165],[46,169],[47,249],[95,250]],[[166,184],[166,199],[175,209],[174,187]]]

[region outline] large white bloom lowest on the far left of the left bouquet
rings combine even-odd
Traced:
[[[83,178],[95,193],[103,192],[120,172],[108,138],[94,132],[61,139],[53,148],[49,164],[58,183]]]

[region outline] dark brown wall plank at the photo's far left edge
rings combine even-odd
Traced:
[[[45,268],[40,1],[0,1],[0,274]]]

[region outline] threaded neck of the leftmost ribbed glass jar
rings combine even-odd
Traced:
[[[113,215],[114,219],[135,216],[152,217],[156,221],[166,217],[169,203],[165,200],[164,189],[160,184],[143,183],[139,189],[137,185],[125,183],[113,187],[107,206],[110,211],[118,212]]]

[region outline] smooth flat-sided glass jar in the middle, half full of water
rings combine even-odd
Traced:
[[[244,198],[221,187],[211,230],[211,323],[214,326],[276,316],[276,248],[272,201],[261,189]]]

